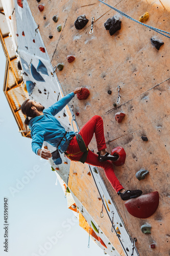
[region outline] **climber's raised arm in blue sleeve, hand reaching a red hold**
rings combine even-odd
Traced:
[[[53,116],[60,112],[68,102],[75,97],[75,94],[79,93],[82,90],[82,87],[78,87],[74,92],[67,94],[65,97],[54,103],[50,108],[47,108],[46,111],[49,111]]]

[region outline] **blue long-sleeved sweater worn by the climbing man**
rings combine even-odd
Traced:
[[[68,132],[66,138],[63,138],[66,131],[54,116],[60,112],[74,96],[74,92],[67,94],[58,102],[50,106],[50,108],[43,110],[42,116],[36,116],[30,120],[29,127],[31,129],[32,150],[35,154],[41,149],[43,141],[56,147],[62,140],[58,150],[61,153],[66,151],[68,144],[71,138],[75,136],[75,133]]]

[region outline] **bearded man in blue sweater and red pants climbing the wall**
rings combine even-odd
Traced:
[[[56,156],[56,154],[54,156],[50,151],[41,149],[43,141],[46,141],[57,147],[60,153],[65,153],[71,161],[81,161],[104,168],[107,179],[122,200],[125,201],[140,196],[142,194],[141,190],[126,190],[115,176],[113,164],[108,160],[115,161],[117,160],[117,156],[112,156],[106,152],[107,147],[104,137],[103,119],[101,116],[93,116],[82,127],[78,135],[74,132],[66,132],[64,127],[55,118],[55,115],[60,112],[81,89],[82,87],[76,88],[74,92],[67,94],[47,109],[44,109],[44,106],[40,103],[30,99],[22,103],[21,111],[26,116],[26,129],[28,125],[31,129],[33,152],[43,159],[51,157],[56,161],[61,159],[59,153],[57,154],[58,156]],[[95,134],[98,146],[98,155],[88,150],[88,144],[93,134]],[[58,163],[61,162],[59,161]]]

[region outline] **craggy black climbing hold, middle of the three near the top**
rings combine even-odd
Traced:
[[[113,35],[117,30],[121,29],[121,20],[114,15],[112,18],[108,18],[104,26],[106,30],[109,30],[110,35]]]

